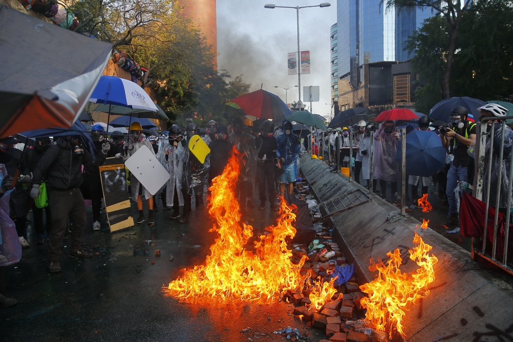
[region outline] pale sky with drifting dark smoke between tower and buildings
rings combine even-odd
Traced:
[[[326,1],[326,0],[324,0]],[[287,74],[287,53],[297,50],[295,9],[266,9],[276,6],[311,6],[312,0],[218,0],[218,68],[232,76],[243,75],[251,91],[260,89],[277,94],[285,101],[285,90],[298,85],[298,75]],[[311,73],[301,75],[301,87],[320,86],[321,98],[313,112],[330,113],[329,30],[337,22],[337,2],[327,8],[300,9],[300,48],[310,51]],[[303,96],[303,89],[301,89]],[[298,88],[288,90],[288,103],[298,100]],[[326,105],[327,104],[327,105]],[[306,108],[310,103],[305,103]]]

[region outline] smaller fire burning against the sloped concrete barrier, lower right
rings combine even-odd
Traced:
[[[429,255],[432,247],[426,245],[422,237],[415,233],[413,243],[416,247],[408,250],[410,259],[419,266],[415,272],[402,273],[399,267],[402,264],[399,249],[388,252],[390,260],[386,266],[381,259],[376,263],[370,260],[370,271],[378,271],[378,277],[368,284],[360,286],[360,289],[369,294],[362,299],[362,305],[367,308],[366,318],[376,330],[388,331],[391,337],[392,328],[404,335],[402,320],[404,307],[408,303],[415,303],[419,298],[429,294],[427,286],[435,281],[433,266],[438,263],[438,258]]]

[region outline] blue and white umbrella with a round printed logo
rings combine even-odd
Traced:
[[[102,76],[90,102],[157,112],[150,96],[138,84],[116,76]]]

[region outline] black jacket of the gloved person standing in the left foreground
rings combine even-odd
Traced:
[[[82,184],[82,165],[88,172],[93,172],[93,166],[105,162],[106,155],[102,151],[93,157],[86,149],[84,154],[74,155],[73,150],[64,138],[58,138],[57,144],[46,151],[34,170],[32,183],[41,185],[46,179],[48,189],[70,190]]]

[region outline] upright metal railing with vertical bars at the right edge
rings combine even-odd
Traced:
[[[487,117],[483,118],[480,123],[477,125],[476,131],[476,144],[475,144],[475,177],[473,184],[473,196],[477,199],[482,200],[486,204],[486,209],[484,213],[484,233],[481,238],[472,237],[471,244],[471,257],[476,260],[477,256],[480,256],[490,263],[502,268],[503,270],[513,274],[513,267],[511,264],[511,257],[508,258],[508,238],[509,238],[509,220],[510,220],[510,210],[511,210],[511,184],[513,183],[513,163],[509,160],[509,183],[507,188],[507,206],[506,208],[500,208],[501,205],[501,197],[504,197],[503,189],[502,189],[502,169],[504,166],[504,160],[508,160],[511,158],[510,155],[504,156],[504,137],[506,132],[506,119],[511,119],[509,117]],[[498,174],[497,174],[497,187],[496,189],[490,189],[491,187],[491,173],[492,173],[492,163],[494,163],[494,136],[495,136],[495,121],[501,123],[501,143],[500,143],[500,151],[499,151],[499,159],[498,159]],[[489,122],[492,122],[491,128],[487,131],[487,125]],[[489,150],[486,150],[486,143],[489,141]],[[504,159],[506,158],[506,159]],[[495,217],[494,217],[494,237],[491,241],[492,248],[491,254],[488,249],[487,251],[487,230],[488,230],[488,216],[489,216],[489,208],[490,208],[490,191],[496,191],[496,199],[495,203],[492,203],[491,207],[495,208]],[[503,212],[504,218],[504,227],[499,227],[499,211],[506,210]],[[502,255],[502,260],[500,257],[497,257],[497,247],[499,242],[499,234],[501,229],[504,229],[504,254]],[[479,246],[481,242],[481,246]]]

